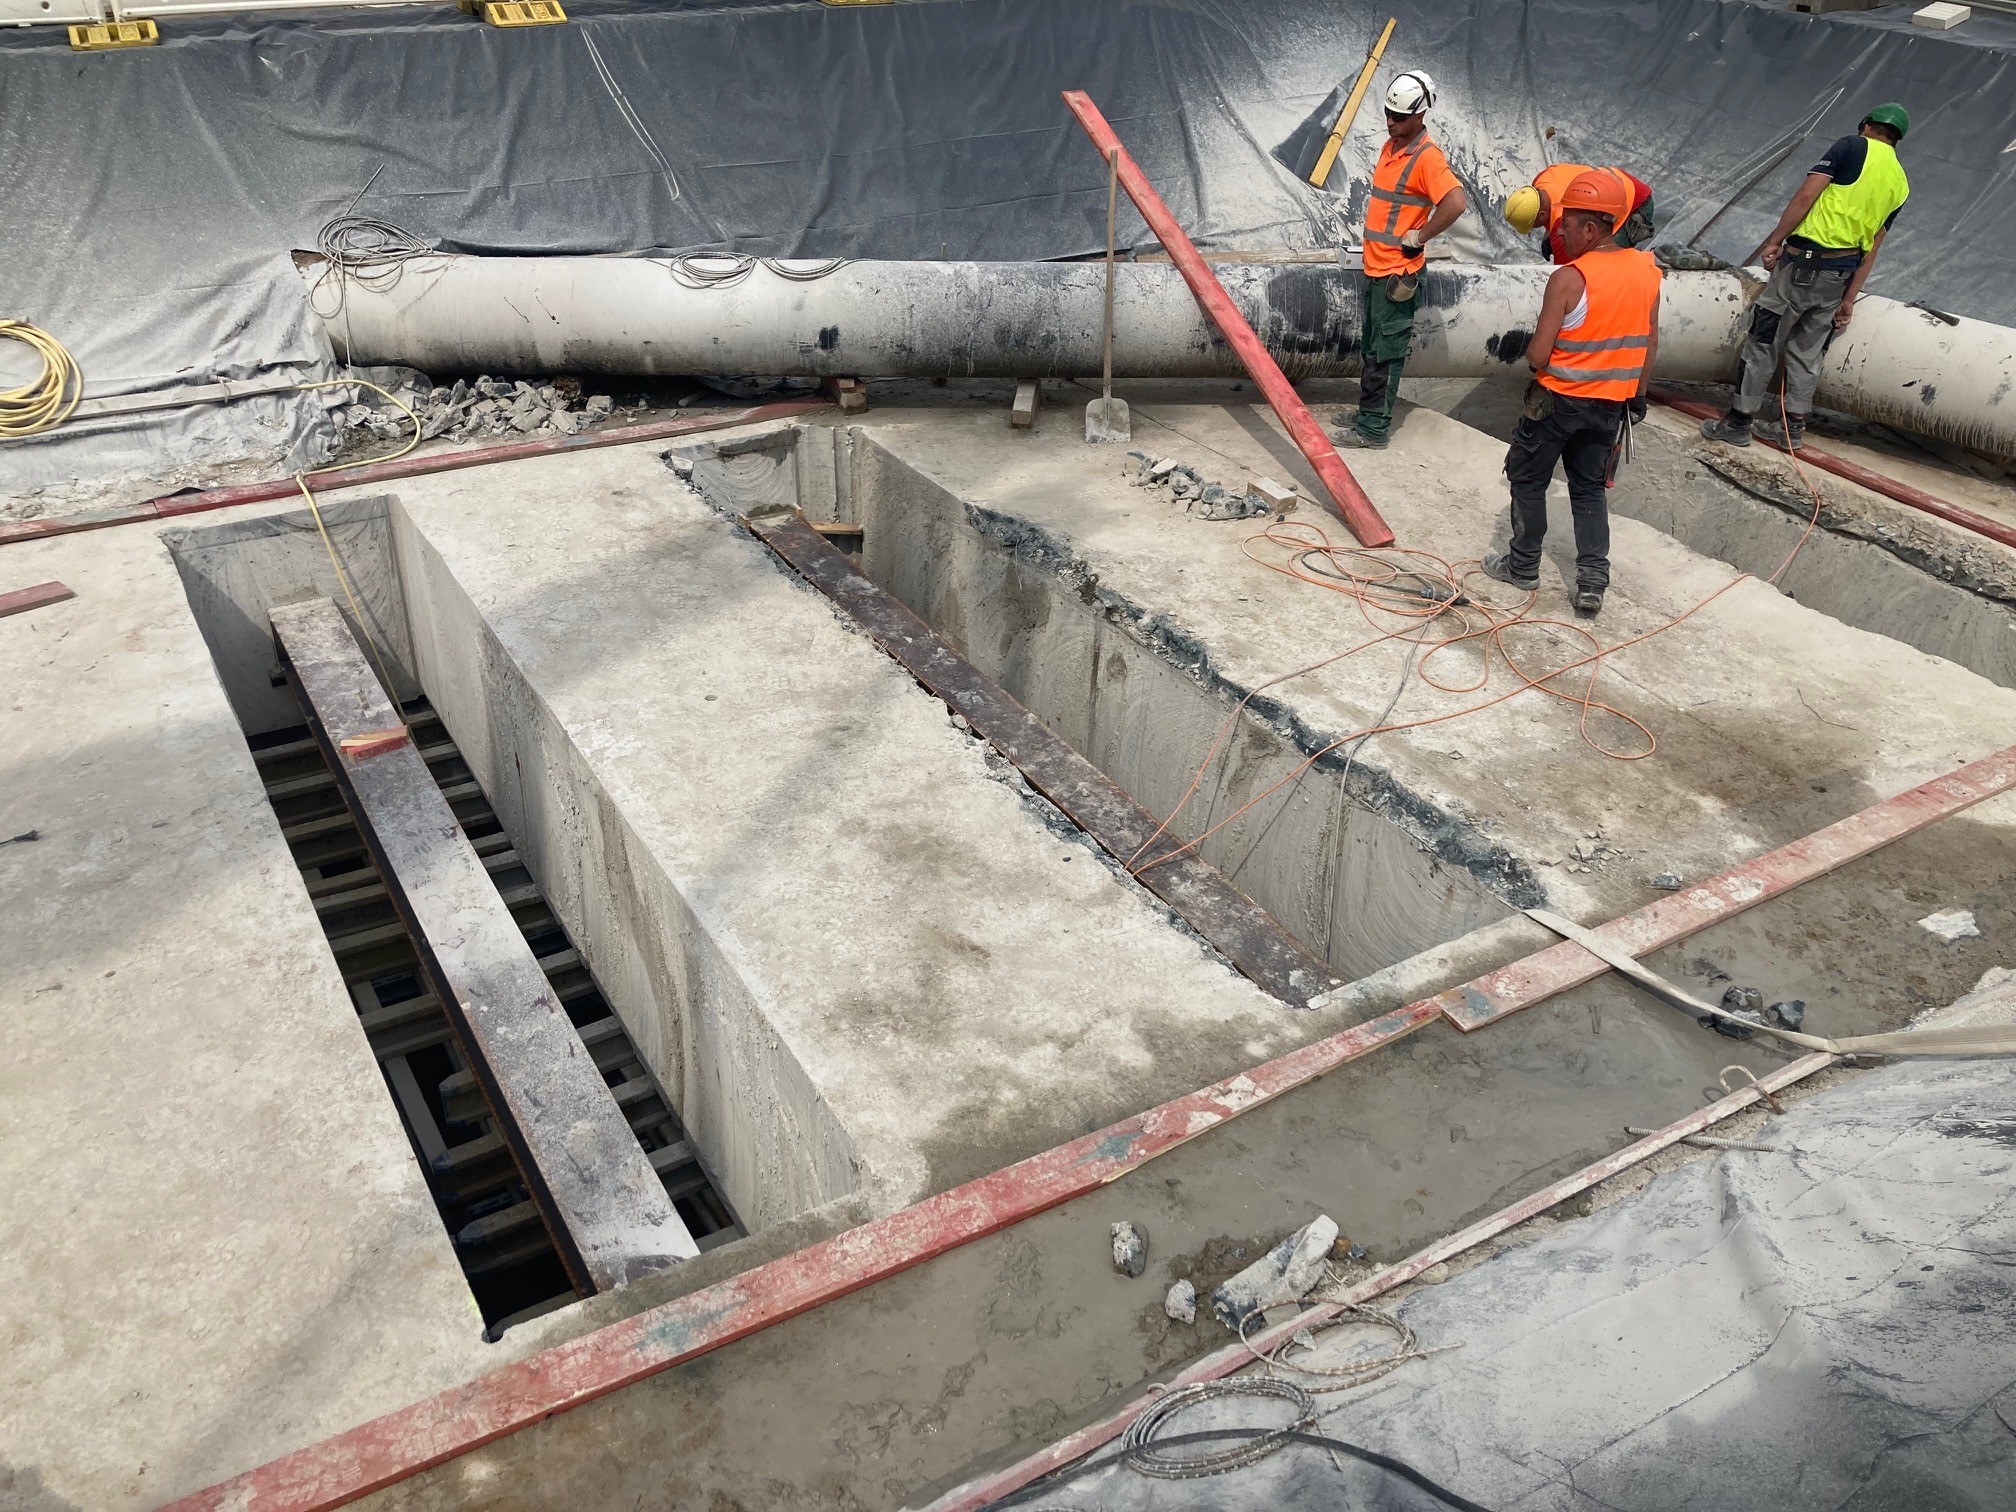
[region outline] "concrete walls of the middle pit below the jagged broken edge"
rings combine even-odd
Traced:
[[[863,526],[863,569],[1155,814],[1171,812],[1246,689],[1117,601],[1056,542],[968,506],[873,431],[816,425],[689,454],[718,504],[798,502]],[[1191,839],[1298,768],[1264,696],[1173,831]],[[1306,746],[1306,748],[1304,748]],[[1343,752],[1204,843],[1204,855],[1347,982],[1510,917],[1470,873],[1375,810]],[[1369,784],[1367,784],[1369,786]],[[1433,825],[1437,816],[1423,816]]]

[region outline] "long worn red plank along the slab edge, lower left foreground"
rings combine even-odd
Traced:
[[[569,1407],[657,1375],[821,1302],[1097,1191],[1248,1109],[1435,1022],[1411,1004],[1292,1050],[1200,1093],[772,1260],[718,1286],[506,1365],[236,1480],[167,1512],[335,1508]]]

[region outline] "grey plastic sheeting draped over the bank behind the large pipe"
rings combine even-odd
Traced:
[[[1742,258],[1820,147],[1901,99],[1915,194],[1871,288],[2016,325],[2016,65],[1935,34],[1742,0],[1427,0],[1401,16],[1337,192],[1318,192],[1300,169],[1385,4],[571,14],[526,30],[437,6],[181,18],[113,54],[75,54],[60,28],[0,36],[0,310],[62,339],[93,395],[327,375],[288,254],[353,202],[480,252],[1085,254],[1105,175],[1066,87],[1093,93],[1206,246],[1335,246],[1363,210],[1379,89],[1427,67],[1435,135],[1480,210],[1454,240],[1478,258],[1530,256],[1498,206],[1544,165],[1544,127],[1558,155],[1651,181],[1661,240],[1712,222],[1702,248]],[[99,421],[0,452],[0,490],[256,448],[306,460],[329,446],[321,411]]]

